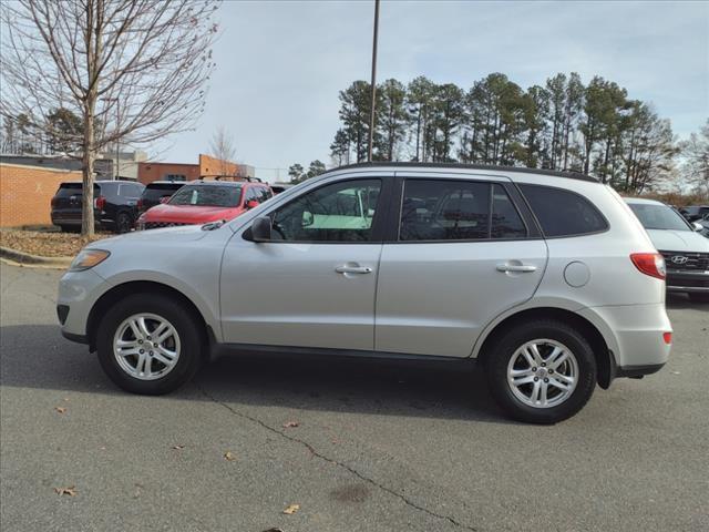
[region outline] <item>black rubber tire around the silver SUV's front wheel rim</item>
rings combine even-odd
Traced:
[[[155,380],[141,380],[126,372],[113,352],[113,339],[121,324],[136,314],[157,315],[172,324],[179,337],[179,356],[173,369]],[[191,313],[175,299],[161,294],[135,294],[113,305],[96,331],[99,361],[109,378],[132,393],[161,396],[187,382],[199,369],[205,349],[205,331]]]

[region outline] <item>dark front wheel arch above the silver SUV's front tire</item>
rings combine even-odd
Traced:
[[[91,308],[86,319],[86,334],[91,351],[94,351],[96,348],[96,331],[103,315],[116,301],[133,294],[161,294],[176,300],[184,306],[184,309],[193,316],[193,318],[199,324],[201,329],[204,330],[203,341],[205,341],[205,345],[213,344],[215,341],[215,332],[212,329],[212,326],[207,323],[198,307],[185,294],[172,286],[154,280],[130,280],[113,286],[111,289],[106,290],[99,299],[96,299],[96,303],[94,303]],[[207,351],[207,349],[204,350],[204,352]]]

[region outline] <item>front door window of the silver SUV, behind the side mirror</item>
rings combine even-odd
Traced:
[[[274,238],[371,241],[380,191],[380,180],[361,180],[335,183],[304,194],[276,211]]]

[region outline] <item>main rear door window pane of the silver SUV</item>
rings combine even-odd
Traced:
[[[400,241],[489,238],[490,185],[464,181],[408,180]]]

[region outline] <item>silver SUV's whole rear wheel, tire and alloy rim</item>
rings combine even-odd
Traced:
[[[571,418],[596,386],[596,359],[588,341],[561,321],[514,327],[485,360],[493,397],[520,421],[555,423]]]

